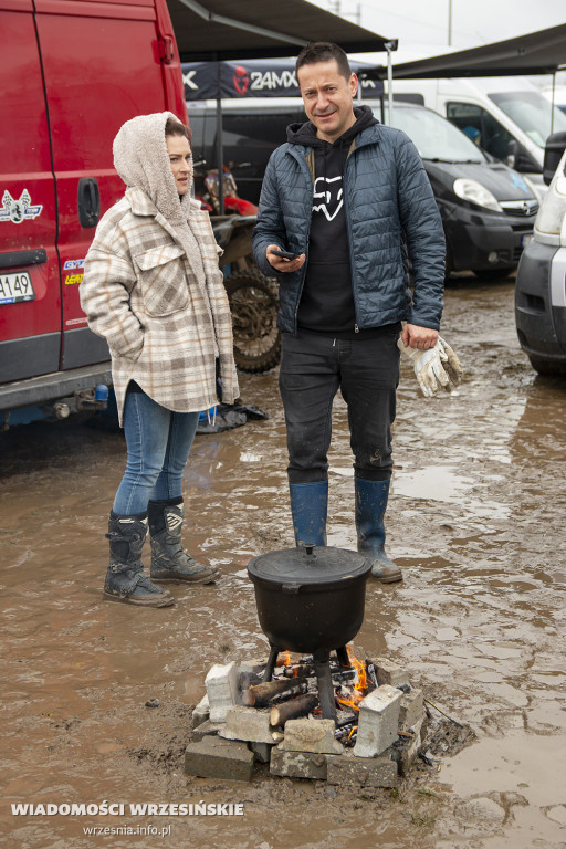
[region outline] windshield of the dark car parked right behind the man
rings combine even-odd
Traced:
[[[379,109],[374,109],[380,118]],[[479,147],[458,127],[430,109],[394,105],[394,127],[407,133],[422,159],[485,163]]]

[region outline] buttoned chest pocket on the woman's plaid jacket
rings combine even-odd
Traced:
[[[185,251],[177,244],[151,248],[134,256],[144,308],[148,315],[171,315],[187,306],[189,290],[184,256]]]

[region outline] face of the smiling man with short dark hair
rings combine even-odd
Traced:
[[[331,62],[303,65],[298,69],[297,77],[306,117],[315,125],[318,138],[332,144],[356,123],[356,74],[346,80],[333,59]]]

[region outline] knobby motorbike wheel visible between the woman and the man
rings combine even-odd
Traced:
[[[279,291],[259,269],[234,271],[224,280],[232,312],[234,360],[241,371],[261,374],[281,358]]]

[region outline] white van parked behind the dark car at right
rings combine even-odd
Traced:
[[[394,80],[394,97],[420,103],[463,129],[476,145],[521,171],[544,193],[544,146],[566,130],[566,115],[524,77]],[[511,144],[510,144],[511,143]]]

